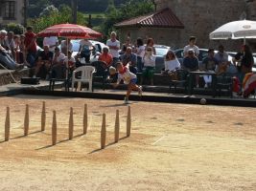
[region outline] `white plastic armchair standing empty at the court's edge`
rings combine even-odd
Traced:
[[[81,73],[81,75],[79,75],[79,78],[76,77],[77,73]],[[79,84],[81,84],[83,82],[83,83],[89,84],[89,91],[92,92],[93,73],[95,73],[95,68],[93,66],[81,66],[81,67],[77,68],[75,71],[73,71],[72,91],[74,91],[75,82],[78,82],[78,87],[80,87]],[[78,89],[80,89],[80,88],[78,88]]]

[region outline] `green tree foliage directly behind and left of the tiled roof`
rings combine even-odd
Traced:
[[[127,3],[121,5],[119,9],[108,9],[106,12],[106,20],[102,25],[102,32],[106,35],[114,30],[114,24],[123,20],[140,16],[154,11],[154,7],[151,0],[129,0]]]

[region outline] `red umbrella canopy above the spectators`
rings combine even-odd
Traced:
[[[58,36],[66,38],[99,38],[102,33],[75,24],[59,24],[37,33],[38,37]]]

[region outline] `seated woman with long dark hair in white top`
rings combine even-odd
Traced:
[[[174,73],[177,69],[180,69],[180,63],[175,53],[170,50],[165,56],[165,74]]]

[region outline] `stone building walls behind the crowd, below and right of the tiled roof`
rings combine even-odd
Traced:
[[[230,21],[244,18],[256,20],[254,0],[154,0],[154,3],[156,11],[169,8],[184,28],[161,28],[154,25],[151,25],[151,28],[149,26],[131,28],[119,23],[116,26],[121,33],[121,39],[128,33],[131,38],[135,38],[139,33],[143,38],[153,37],[158,44],[180,48],[188,43],[189,36],[195,35],[201,48],[216,48],[218,44],[223,44],[227,50],[236,51],[243,40],[213,41],[209,40],[209,33]],[[254,46],[254,40],[247,42]]]

